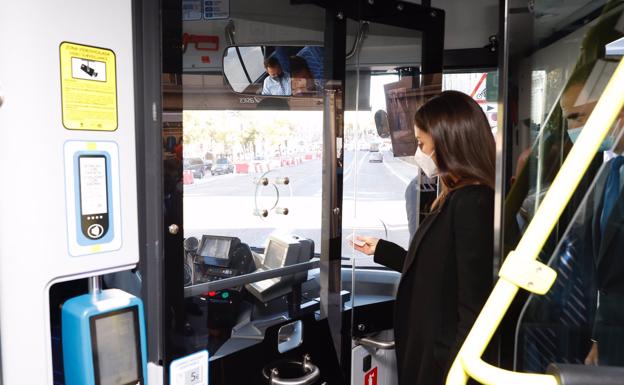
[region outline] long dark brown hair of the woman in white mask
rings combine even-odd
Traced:
[[[449,192],[469,184],[494,189],[496,144],[483,110],[470,96],[444,91],[416,112],[415,124],[433,138],[442,193],[433,207],[440,207]]]

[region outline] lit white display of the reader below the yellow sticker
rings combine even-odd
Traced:
[[[80,207],[82,215],[108,212],[106,192],[106,158],[104,156],[81,156]]]

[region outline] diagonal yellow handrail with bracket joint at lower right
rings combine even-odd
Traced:
[[[552,286],[556,275],[552,269],[536,261],[538,253],[624,106],[622,90],[624,58],[600,96],[518,247],[501,267],[494,290],[451,366],[447,385],[465,385],[469,376],[486,385],[557,385],[554,376],[500,369],[484,362],[481,356],[519,288],[544,294]]]

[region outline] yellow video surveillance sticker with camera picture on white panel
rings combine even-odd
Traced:
[[[60,57],[63,126],[68,130],[115,131],[115,53],[63,42]]]

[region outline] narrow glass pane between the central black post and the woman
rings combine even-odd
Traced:
[[[408,217],[414,219],[419,211],[417,194],[407,187],[420,172],[410,159],[416,149],[410,122],[423,99],[418,89],[422,34],[377,23],[347,26],[348,46],[360,37],[347,61],[342,197],[343,288],[351,292],[347,322],[355,338],[349,352],[351,381],[360,377],[359,370],[379,365],[391,368],[385,381],[392,383],[394,351],[359,346],[357,338],[393,340],[392,309],[400,274],[375,263],[372,255],[356,251],[350,240],[374,237],[405,248],[409,244]],[[406,196],[413,198],[409,206]],[[371,363],[368,368],[363,366],[364,356]]]

